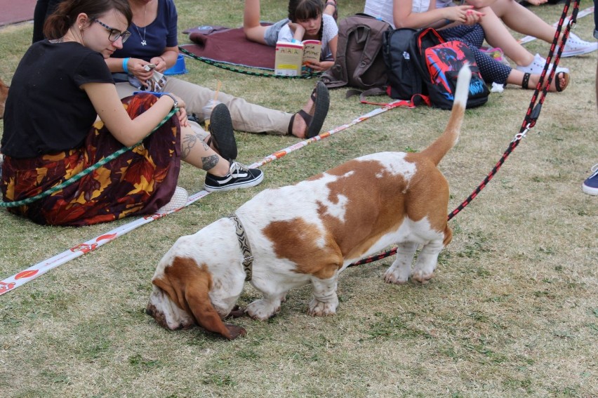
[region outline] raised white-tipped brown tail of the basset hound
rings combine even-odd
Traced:
[[[463,116],[465,115],[465,106],[467,105],[467,96],[470,92],[471,79],[471,69],[469,65],[465,64],[457,77],[457,89],[449,124],[446,125],[444,133],[421,152],[425,157],[431,159],[434,164],[439,164],[446,152],[449,152],[459,140],[461,124],[463,124]]]

